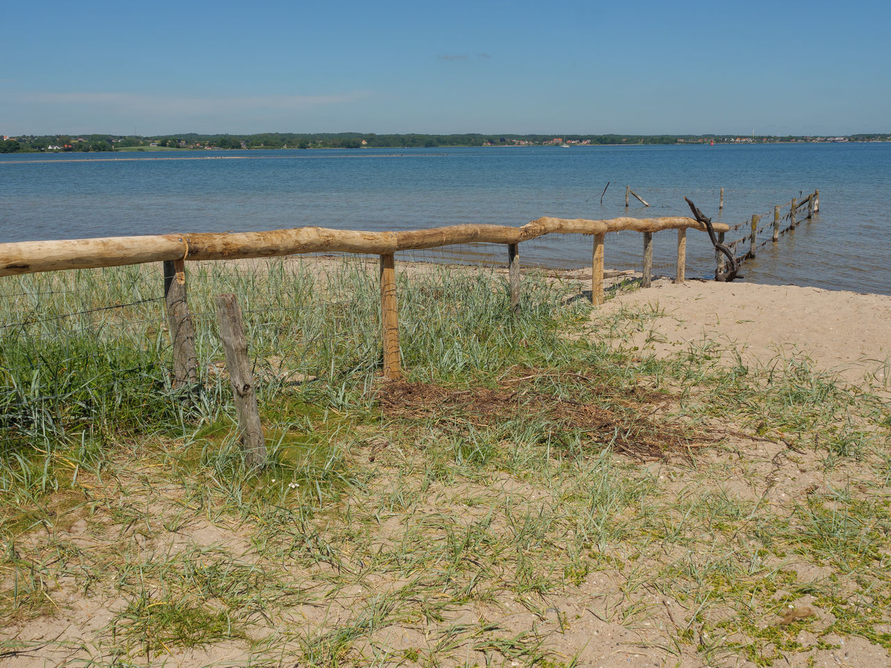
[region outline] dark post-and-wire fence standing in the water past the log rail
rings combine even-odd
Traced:
[[[721,189],[721,205],[723,207],[723,188]],[[781,214],[782,209],[789,208],[785,214]],[[813,214],[820,211],[820,189],[813,191],[800,200],[792,198],[784,204],[777,204],[773,207],[772,215],[769,212],[763,214],[753,214],[751,220],[743,221],[740,224],[733,225],[726,232],[717,232],[718,242],[724,243],[724,235],[727,232],[739,232],[748,229],[748,234],[739,239],[732,240],[724,244],[736,258],[737,265],[743,265],[747,260],[756,257],[757,251],[764,248],[769,243],[776,243],[780,237],[787,232],[792,232],[805,220],[813,218]],[[762,221],[764,224],[762,224]],[[760,227],[758,225],[761,225]],[[783,226],[785,225],[785,226]],[[766,239],[764,233],[771,230],[771,234]],[[758,240],[761,240],[759,243]],[[748,248],[747,248],[748,247]],[[746,248],[746,250],[741,250]],[[715,252],[715,262],[717,263],[717,273],[723,273],[725,270],[726,259],[723,253]]]

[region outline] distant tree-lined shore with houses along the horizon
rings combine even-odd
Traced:
[[[248,149],[437,148],[454,146],[597,146],[634,144],[743,144],[889,142],[891,134],[741,136],[735,134],[22,134],[3,135],[0,153],[65,151],[208,151]]]

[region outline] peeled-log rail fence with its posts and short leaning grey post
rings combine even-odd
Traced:
[[[195,351],[195,328],[190,313],[187,290],[187,262],[277,257],[307,253],[347,253],[380,257],[380,344],[383,374],[399,379],[402,361],[396,296],[396,261],[398,251],[441,248],[454,244],[494,243],[507,247],[508,286],[512,309],[519,307],[521,275],[519,247],[524,241],[546,234],[584,234],[593,236],[591,299],[601,303],[604,295],[604,249],[609,232],[641,232],[643,238],[642,286],[649,287],[652,273],[652,235],[664,230],[677,231],[676,281],[684,280],[686,232],[688,228],[704,231],[696,220],[683,217],[630,218],[610,220],[561,219],[543,217],[521,227],[487,224],[408,232],[358,232],[319,227],[271,232],[165,234],[143,237],[109,237],[85,240],[21,241],[0,244],[0,276],[65,270],[105,268],[121,265],[163,263],[163,297],[145,297],[133,306],[162,301],[172,342],[174,388],[194,387],[199,382],[199,364]],[[718,232],[729,228],[715,224]],[[161,286],[159,286],[160,292]],[[102,311],[106,307],[95,310]],[[75,315],[83,317],[94,309]],[[241,309],[233,294],[216,299],[219,336],[225,351],[225,365],[233,388],[241,442],[251,464],[266,459],[266,446],[259,427],[257,395],[248,363],[248,338],[241,324]],[[51,318],[53,319],[53,318]],[[36,322],[42,322],[38,319]],[[4,327],[12,327],[8,323]],[[69,372],[66,368],[61,371]]]

